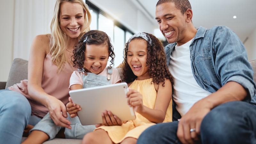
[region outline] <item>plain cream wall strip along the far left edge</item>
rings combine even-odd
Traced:
[[[13,59],[14,1],[0,2],[0,81],[7,81]]]

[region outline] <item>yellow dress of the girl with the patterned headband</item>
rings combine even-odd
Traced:
[[[129,86],[131,89],[135,89],[142,94],[143,105],[154,109],[156,103],[156,90],[152,78],[145,80],[135,80]],[[139,113],[135,112],[136,119],[128,121],[121,126],[100,126],[97,129],[103,129],[108,132],[108,136],[114,143],[120,143],[125,138],[132,137],[138,139],[140,134],[148,127],[155,125]],[[166,111],[164,122],[172,121],[172,100]]]

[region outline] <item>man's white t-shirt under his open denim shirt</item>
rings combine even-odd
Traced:
[[[211,94],[201,88],[193,76],[189,50],[191,42],[192,39],[186,44],[175,46],[168,66],[174,81],[172,97],[181,116],[184,116],[198,100]]]

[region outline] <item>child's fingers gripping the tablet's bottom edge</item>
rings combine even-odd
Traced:
[[[122,125],[123,122],[116,116],[113,115],[111,111],[105,110],[102,114],[102,124],[96,124],[96,127],[100,127],[101,125],[105,126],[113,126],[113,125]]]

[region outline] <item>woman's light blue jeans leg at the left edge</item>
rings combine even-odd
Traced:
[[[0,90],[0,143],[20,143],[30,115],[26,97],[19,92]]]

